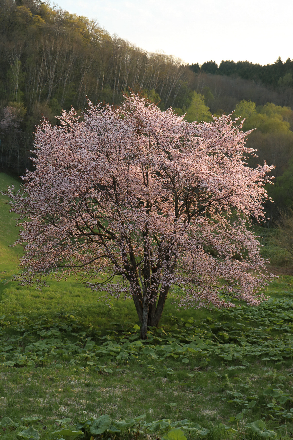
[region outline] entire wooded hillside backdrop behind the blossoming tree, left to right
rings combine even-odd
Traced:
[[[209,61],[189,66],[180,59],[149,53],[97,22],[40,0],[0,1],[0,167],[22,174],[31,168],[33,130],[42,116],[87,99],[119,104],[123,93],[143,93],[188,121],[211,121],[235,110],[244,129],[257,128],[248,144],[275,164],[275,204],[270,215],[293,201],[293,61],[260,66],[247,61]]]

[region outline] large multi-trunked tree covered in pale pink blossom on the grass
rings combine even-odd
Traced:
[[[132,297],[142,338],[168,294],[184,308],[260,304],[268,276],[249,226],[273,167],[249,168],[241,127],[189,123],[134,94],[44,120],[35,171],[9,190],[25,249],[16,278],[74,275],[106,301]]]

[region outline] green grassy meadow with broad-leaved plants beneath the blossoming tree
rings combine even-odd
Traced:
[[[0,174],[2,191],[11,183],[19,185]],[[169,299],[159,328],[140,341],[132,301],[109,307],[74,280],[41,292],[11,281],[22,249],[9,247],[18,231],[5,202],[0,436],[293,437],[293,277],[275,279],[258,308],[177,310]]]

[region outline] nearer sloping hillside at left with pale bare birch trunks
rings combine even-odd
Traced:
[[[84,109],[87,97],[117,104],[129,88],[143,90],[162,108],[183,107],[194,76],[179,59],[147,53],[86,17],[37,0],[2,2],[0,59],[2,113],[9,103],[17,109],[9,130],[5,124],[9,142],[2,142],[0,160],[19,172],[29,166],[32,131],[42,114],[55,123],[62,108]]]

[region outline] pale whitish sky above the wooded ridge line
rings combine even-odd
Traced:
[[[293,58],[292,0],[59,0],[111,35],[191,63]]]

